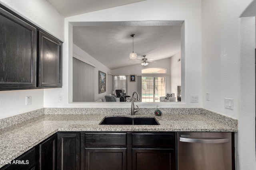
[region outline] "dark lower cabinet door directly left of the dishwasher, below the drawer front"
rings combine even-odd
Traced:
[[[174,149],[132,149],[133,170],[176,170]]]

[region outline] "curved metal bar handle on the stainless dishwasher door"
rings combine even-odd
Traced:
[[[188,143],[228,143],[229,138],[193,139],[193,138],[180,137],[180,142],[188,142]]]

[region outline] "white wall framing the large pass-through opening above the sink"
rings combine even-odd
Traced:
[[[186,5],[184,5],[186,4]],[[133,9],[132,13],[131,10]],[[70,104],[70,90],[72,89],[72,24],[81,24],[89,21],[176,21],[184,20],[185,24],[182,26],[184,31],[184,48],[182,48],[182,56],[186,59],[183,67],[184,72],[184,101],[186,104],[172,104],[172,107],[201,107],[202,103],[190,103],[190,95],[197,94],[199,99],[202,98],[202,70],[201,70],[201,0],[147,0],[116,8],[100,10],[97,12],[90,12],[78,16],[65,18],[65,42],[64,42],[64,68],[65,73],[63,77],[63,88],[59,91],[46,91],[44,101],[45,107],[121,107],[119,105],[102,105],[97,104]],[[76,22],[76,23],[75,23]],[[186,64],[188,63],[188,64]],[[189,84],[187,86],[186,84]],[[58,103],[50,96],[58,96],[62,93],[64,95],[64,102]],[[140,106],[152,107],[150,104],[141,104]],[[130,107],[125,105],[124,107]],[[170,107],[170,104],[162,104],[160,107]]]

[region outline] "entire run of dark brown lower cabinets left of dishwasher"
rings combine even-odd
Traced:
[[[1,170],[176,170],[175,132],[58,132]]]

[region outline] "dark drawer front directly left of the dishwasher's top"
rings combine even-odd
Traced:
[[[132,133],[133,147],[175,147],[175,133]]]

